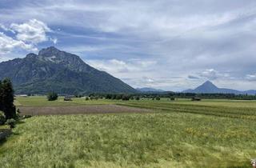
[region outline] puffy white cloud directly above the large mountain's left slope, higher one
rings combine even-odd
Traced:
[[[46,32],[50,32],[50,28],[44,22],[37,19],[31,19],[29,22],[22,24],[12,23],[10,28],[17,32],[16,38],[23,42],[45,42],[48,40]]]

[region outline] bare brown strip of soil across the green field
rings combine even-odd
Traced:
[[[148,113],[152,110],[118,105],[18,107],[22,115]]]

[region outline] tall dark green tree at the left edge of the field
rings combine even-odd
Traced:
[[[14,106],[14,89],[9,78],[0,82],[0,110],[6,116],[6,119],[16,117],[16,107]]]

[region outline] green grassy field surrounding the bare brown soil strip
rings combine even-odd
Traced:
[[[256,158],[256,102],[180,99],[47,102],[17,106],[118,104],[147,114],[28,118],[0,145],[0,167],[251,167]]]

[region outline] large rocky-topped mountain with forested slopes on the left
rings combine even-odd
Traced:
[[[0,63],[0,79],[11,78],[16,94],[135,93],[137,90],[75,54],[54,46]]]

